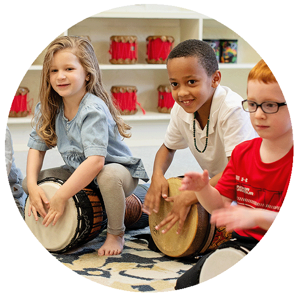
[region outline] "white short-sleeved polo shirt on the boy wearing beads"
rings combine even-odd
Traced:
[[[210,111],[208,146],[200,153],[194,147],[193,113],[174,104],[164,145],[173,150],[189,147],[203,170],[208,170],[212,178],[222,172],[228,163],[233,148],[243,141],[258,137],[248,112],[242,108],[243,99],[230,88],[219,85],[214,93]],[[206,128],[202,130],[195,120],[196,146],[203,150],[206,141]],[[182,172],[180,172],[181,174]],[[185,172],[183,172],[185,173]]]

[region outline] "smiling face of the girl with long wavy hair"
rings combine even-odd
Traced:
[[[70,49],[57,51],[49,69],[52,88],[64,99],[81,100],[89,79],[78,58]]]

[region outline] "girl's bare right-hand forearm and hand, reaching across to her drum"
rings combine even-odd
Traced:
[[[55,225],[64,213],[66,202],[77,192],[89,185],[99,174],[105,164],[105,157],[99,155],[88,156],[74,171],[71,177],[57,190],[49,202],[48,214],[42,224]]]

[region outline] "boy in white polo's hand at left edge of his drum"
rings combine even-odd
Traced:
[[[153,211],[158,213],[160,198],[167,198],[169,190],[169,184],[164,176],[152,177],[151,185],[145,196],[143,205],[143,212],[150,215]]]

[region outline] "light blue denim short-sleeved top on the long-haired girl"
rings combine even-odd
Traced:
[[[40,111],[40,102],[35,114]],[[86,93],[82,98],[78,111],[69,121],[64,116],[64,105],[56,117],[57,148],[72,173],[88,156],[105,157],[105,164],[119,163],[125,166],[132,177],[148,182],[149,178],[140,158],[132,156],[120,136],[107,105],[97,96]],[[35,129],[29,138],[28,147],[39,151],[50,149],[37,136]],[[95,180],[96,182],[96,180]]]

